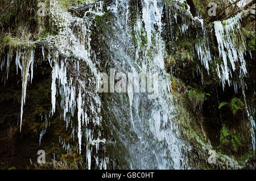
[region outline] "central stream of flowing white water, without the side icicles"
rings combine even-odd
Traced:
[[[125,10],[122,9],[120,12],[118,6],[122,6]],[[127,1],[115,1],[112,9],[115,12],[117,28],[122,31],[115,32],[118,34],[118,39],[110,43],[110,50],[118,54],[119,57],[124,57],[126,60],[123,62],[127,62],[120,66],[119,57],[117,60],[112,60],[115,69],[135,74],[150,72],[159,75],[157,99],[148,99],[146,94],[132,92],[132,89],[127,90],[130,92],[127,103],[130,108],[132,125],[130,132],[134,132],[138,136],[138,138],[133,136],[132,140],[127,140],[129,135],[120,135],[122,142],[129,149],[130,169],[181,169],[183,164],[185,165],[180,152],[183,142],[177,136],[174,106],[170,89],[168,89],[171,81],[164,70],[165,45],[161,37],[163,3],[151,0],[142,1],[142,16],[135,17],[136,23],[131,28],[126,28],[126,24],[130,23],[127,22],[129,18],[126,17],[129,12]],[[129,46],[133,47],[131,34],[137,40],[137,44],[135,44],[135,48],[127,50]],[[142,36],[146,37],[146,44],[142,43]],[[122,45],[124,40],[127,44]],[[139,54],[143,56],[139,56]],[[114,109],[118,110],[119,108],[115,107]],[[125,128],[127,125],[122,127]]]

